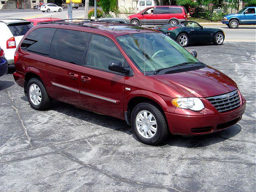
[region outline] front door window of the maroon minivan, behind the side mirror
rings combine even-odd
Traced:
[[[86,65],[108,70],[108,66],[113,61],[120,61],[124,66],[124,58],[114,43],[106,37],[94,35]]]

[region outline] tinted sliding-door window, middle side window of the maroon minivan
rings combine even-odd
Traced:
[[[52,39],[50,58],[82,65],[84,49],[90,33],[57,29]]]

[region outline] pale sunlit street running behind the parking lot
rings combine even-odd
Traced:
[[[93,7],[90,7],[93,8]],[[89,8],[89,9],[90,9]],[[68,9],[65,8],[62,12],[42,12],[40,10],[0,10],[0,18],[34,18],[34,17],[56,17],[66,19],[68,15]],[[73,9],[73,18],[83,18],[84,7]],[[210,28],[221,28],[225,32],[226,42],[255,42],[256,41],[256,26],[239,26],[238,29],[230,29],[224,24],[210,26],[203,25],[204,27]]]

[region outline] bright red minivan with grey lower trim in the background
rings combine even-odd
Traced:
[[[127,23],[136,25],[177,25],[186,20],[188,20],[187,11],[182,6],[150,7],[126,18]]]

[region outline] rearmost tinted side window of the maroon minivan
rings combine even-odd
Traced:
[[[28,52],[48,56],[55,31],[56,28],[38,28],[26,36],[20,47]]]

